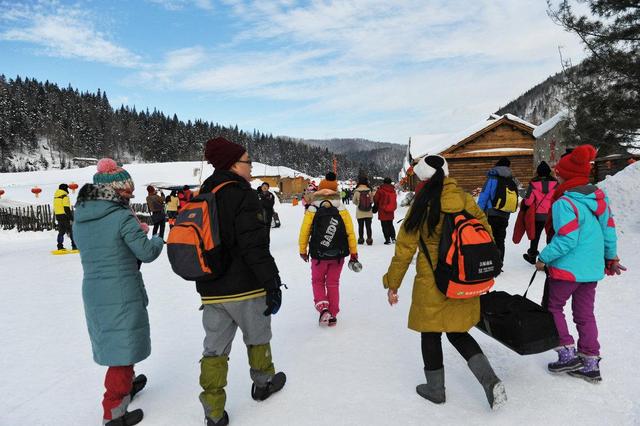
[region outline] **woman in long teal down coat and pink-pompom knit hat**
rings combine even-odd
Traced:
[[[93,359],[108,366],[102,401],[103,424],[133,425],[142,410],[127,412],[131,398],[146,384],[133,365],[151,353],[149,302],[139,262],[152,262],[163,241],[147,238],[148,226],[129,207],[134,184],[126,170],[110,158],[98,162],[93,184],[78,194],[74,237],[84,278],[82,300]]]

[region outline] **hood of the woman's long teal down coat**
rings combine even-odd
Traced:
[[[78,193],[75,221],[89,222],[127,208],[129,208],[129,201],[122,198],[111,185],[87,183]]]

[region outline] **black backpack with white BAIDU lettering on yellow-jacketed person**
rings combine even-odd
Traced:
[[[347,229],[338,209],[329,200],[320,203],[311,224],[309,256],[317,260],[349,256]]]

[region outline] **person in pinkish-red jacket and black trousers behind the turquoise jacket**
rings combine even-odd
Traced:
[[[522,255],[524,260],[532,265],[536,263],[538,243],[540,242],[542,230],[547,222],[547,216],[551,209],[553,192],[556,186],[558,186],[558,181],[551,176],[551,167],[549,167],[545,161],[540,162],[536,169],[536,177],[531,179],[527,195],[523,201],[525,206],[535,209],[535,237],[531,240],[529,250]],[[549,235],[547,235],[547,240],[550,240]]]

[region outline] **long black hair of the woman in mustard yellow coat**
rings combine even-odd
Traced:
[[[413,200],[409,216],[404,221],[404,229],[407,232],[418,229],[426,218],[428,235],[431,236],[440,222],[440,196],[443,186],[444,170],[439,167]]]

